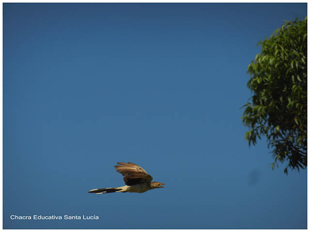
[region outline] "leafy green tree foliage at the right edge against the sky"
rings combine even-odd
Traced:
[[[299,171],[307,167],[307,17],[286,21],[260,44],[261,54],[248,65],[253,96],[243,106],[245,137],[250,146],[266,136],[272,169],[287,161],[285,174]]]

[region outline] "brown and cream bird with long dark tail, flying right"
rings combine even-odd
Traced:
[[[102,194],[111,192],[146,192],[154,188],[165,188],[163,183],[151,182],[153,177],[135,163],[121,163],[115,165],[116,171],[124,176],[125,186],[119,188],[96,188],[89,193]]]

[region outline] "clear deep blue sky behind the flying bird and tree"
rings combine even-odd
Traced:
[[[248,147],[247,67],[307,4],[3,4],[3,227],[306,229],[307,170]],[[87,193],[140,164],[166,188]],[[99,220],[12,220],[11,215]]]

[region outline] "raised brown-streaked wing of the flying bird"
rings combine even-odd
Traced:
[[[135,163],[121,163],[115,165],[116,171],[124,176],[126,185],[135,185],[144,182],[151,183],[153,177],[145,172],[143,168]]]

